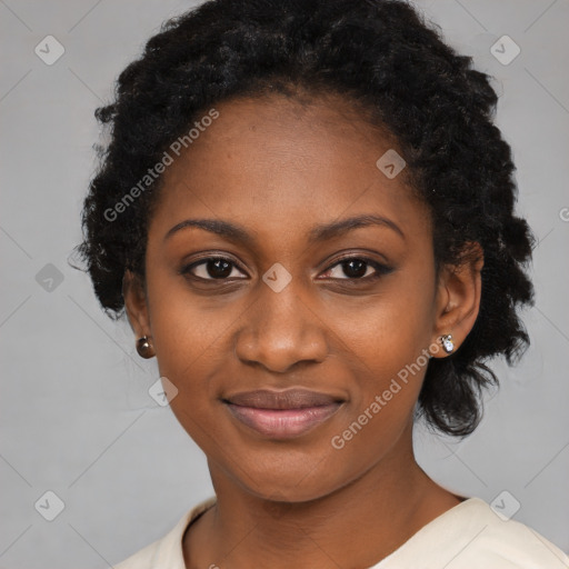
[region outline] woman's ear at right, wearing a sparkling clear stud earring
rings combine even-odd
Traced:
[[[483,250],[476,241],[468,242],[456,266],[440,269],[437,287],[436,318],[431,350],[435,358],[445,358],[441,336],[451,335],[455,350],[465,341],[475,326],[480,309],[483,267]]]

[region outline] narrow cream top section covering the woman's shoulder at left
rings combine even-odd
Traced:
[[[116,565],[114,569],[186,569],[182,552],[183,533],[188,526],[213,503],[214,497],[200,502],[186,512],[166,536]]]

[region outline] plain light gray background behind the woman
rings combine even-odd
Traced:
[[[67,263],[94,169],[93,110],[161,21],[190,6],[0,0],[0,567],[109,567],[211,495],[202,452],[148,396],[156,362],[137,357],[128,325],[109,320]],[[569,2],[419,6],[496,77],[519,212],[539,246],[537,306],[525,313],[531,348],[517,368],[495,363],[502,387],[475,435],[457,443],[419,429],[418,458],[462,495],[492,501],[507,490],[508,508],[520,503],[515,519],[569,551]],[[34,53],[48,34],[66,50],[51,66]],[[502,34],[521,48],[509,64],[490,53]],[[64,502],[53,521],[34,509],[48,490]]]

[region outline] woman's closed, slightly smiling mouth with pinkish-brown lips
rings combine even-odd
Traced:
[[[293,439],[330,419],[345,402],[305,389],[247,391],[222,399],[232,417],[270,439]]]

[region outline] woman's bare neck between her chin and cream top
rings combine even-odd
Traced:
[[[370,567],[459,503],[417,465],[411,433],[369,471],[303,502],[260,498],[210,465],[217,505],[184,536],[187,567]]]

